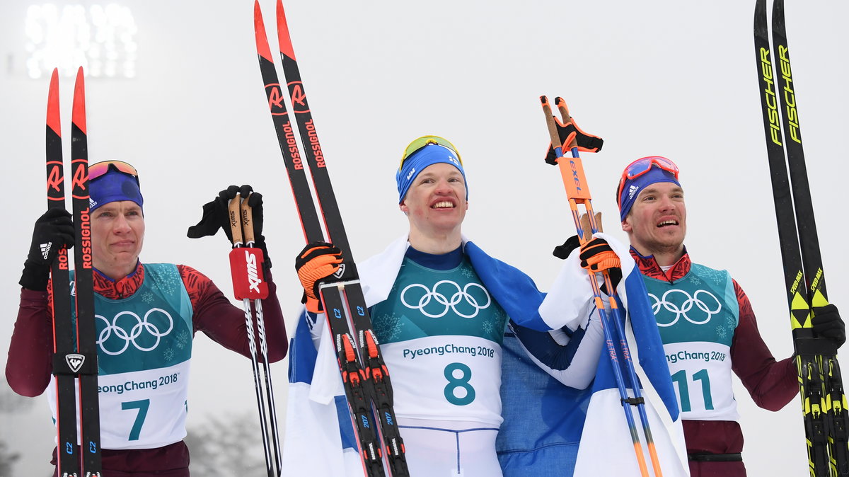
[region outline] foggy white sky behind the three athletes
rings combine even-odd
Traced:
[[[185,231],[220,189],[250,183],[266,198],[264,233],[294,332],[301,289],[292,257],[303,239],[256,62],[253,2],[120,3],[132,8],[138,25],[138,76],[87,81],[89,159],[138,167],[147,217],[142,260],[196,267],[229,294],[226,239],[190,240]],[[0,254],[3,350],[31,223],[45,202],[48,78],[25,75],[28,4],[0,6],[0,177],[8,230]],[[261,5],[271,31],[274,2]],[[470,204],[464,232],[547,288],[560,266],[551,249],[573,227],[559,173],[542,161],[548,132],[537,98],[562,96],[578,124],[605,139],[604,150],[586,154],[584,165],[607,231],[625,239],[613,200],[622,167],[649,154],[675,160],[693,260],[727,268],[749,295],[773,354],[790,355],[756,83],[754,0],[289,0],[286,8],[357,259],[405,231],[396,206],[397,161],[414,137],[438,134],[464,157]],[[841,144],[849,126],[843,114],[849,68],[838,52],[849,5],[787,0],[786,8],[830,298],[846,310],[846,212],[838,191],[849,174]],[[73,81],[61,81],[67,137]],[[201,334],[195,346],[189,425],[255,409],[250,363]],[[5,352],[0,356],[4,364]],[[273,370],[282,417],[286,363]],[[806,474],[798,402],[767,412],[736,385],[750,474]],[[48,416],[43,396],[25,416],[0,413],[3,440],[23,454],[21,475],[50,471]]]

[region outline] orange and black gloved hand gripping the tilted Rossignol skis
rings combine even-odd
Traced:
[[[321,300],[318,300],[318,285],[338,280],[334,273],[340,269],[342,251],[327,242],[307,244],[295,257],[295,270],[304,287],[306,310],[321,312]]]

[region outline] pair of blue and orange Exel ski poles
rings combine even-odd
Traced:
[[[540,97],[540,101],[543,103],[543,112],[545,113],[546,124],[548,125],[548,133],[551,135],[551,144],[554,147],[554,154],[557,158],[557,165],[559,166],[560,175],[563,177],[563,184],[566,188],[566,197],[569,199],[569,208],[572,212],[572,219],[575,222],[575,227],[577,230],[578,241],[580,244],[585,244],[588,242],[588,239],[585,237],[586,233],[586,225],[582,223],[582,216],[580,211],[578,210],[578,205],[583,205],[585,214],[583,215],[584,222],[589,226],[591,233],[596,233],[599,231],[599,223],[598,218],[595,216],[593,212],[593,205],[591,202],[591,195],[589,193],[589,187],[587,185],[587,179],[584,177],[583,165],[581,162],[580,154],[578,154],[578,147],[576,138],[573,137],[571,142],[567,144],[567,147],[571,149],[572,157],[570,160],[566,160],[563,155],[563,148],[560,144],[559,132],[557,129],[557,119],[552,115],[551,106],[548,104],[548,98],[545,96]],[[566,109],[566,104],[563,98],[554,98],[554,103],[557,105],[559,109],[560,115],[563,118],[563,124],[568,124],[571,121],[571,117],[569,115],[569,110]],[[591,234],[589,234],[591,235]],[[643,431],[645,434],[646,446],[649,449],[649,456],[651,457],[652,468],[655,471],[656,477],[661,477],[661,463],[657,457],[657,451],[655,449],[655,441],[652,439],[651,429],[649,428],[649,419],[645,412],[645,404],[644,399],[639,391],[639,383],[637,380],[637,373],[634,371],[633,362],[631,361],[631,353],[628,349],[627,340],[625,339],[625,331],[622,328],[621,323],[621,311],[619,310],[619,306],[616,302],[616,289],[613,286],[613,281],[610,279],[610,273],[607,270],[602,271],[602,277],[604,278],[604,283],[607,286],[608,294],[610,295],[610,311],[612,311],[613,317],[611,319],[610,315],[608,315],[607,311],[604,308],[604,302],[601,299],[601,290],[599,289],[598,278],[596,278],[595,273],[589,271],[589,281],[590,285],[593,287],[593,300],[595,300],[595,305],[599,310],[599,313],[602,317],[602,330],[604,331],[604,341],[607,343],[608,353],[610,355],[610,364],[613,367],[613,373],[616,377],[616,385],[619,388],[619,396],[621,397],[622,408],[625,411],[625,418],[627,420],[628,429],[631,432],[631,440],[634,446],[634,453],[637,456],[637,463],[640,469],[640,474],[645,477],[649,476],[649,469],[645,463],[645,457],[643,455],[643,446],[640,444],[639,435],[637,433],[637,426],[634,424],[633,412],[631,411],[632,406],[636,406],[639,412],[639,418],[643,422]],[[613,331],[610,329],[610,323],[613,323],[615,327],[616,334],[619,335],[619,342],[621,353],[624,358],[625,368],[627,369],[628,379],[631,380],[631,384],[633,386],[633,397],[628,396],[627,390],[625,388],[625,380],[622,376],[622,371],[619,365],[619,360],[616,356],[616,347],[614,345]]]

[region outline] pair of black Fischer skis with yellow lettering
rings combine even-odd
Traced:
[[[784,28],[784,0],[773,2],[772,33],[773,48],[770,48],[767,0],[757,0],[755,55],[758,86],[784,264],[784,284],[790,306],[790,328],[799,373],[808,466],[812,477],[846,476],[849,475],[846,396],[837,349],[831,340],[818,337],[811,323],[811,308],[828,305],[828,299],[802,152],[799,113]],[[823,353],[823,350],[829,351]]]

